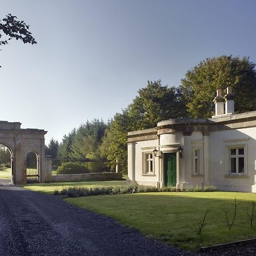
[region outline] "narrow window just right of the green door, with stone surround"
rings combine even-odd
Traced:
[[[193,142],[192,142],[193,143]],[[192,146],[192,176],[204,175],[203,143]],[[197,162],[197,166],[196,166]]]

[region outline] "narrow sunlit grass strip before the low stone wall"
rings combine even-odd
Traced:
[[[23,188],[30,189],[32,191],[38,191],[43,193],[52,194],[56,189],[61,190],[63,187],[93,187],[94,185],[125,185],[125,180],[117,181],[80,181],[80,182],[62,182],[62,183],[40,183],[40,184],[26,184],[22,185]]]

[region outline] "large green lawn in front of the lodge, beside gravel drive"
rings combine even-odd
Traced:
[[[229,231],[223,209],[233,218],[234,199],[241,203],[233,228]],[[247,208],[256,201],[254,193],[238,192],[157,192],[126,195],[69,197],[68,203],[104,214],[121,224],[140,230],[150,238],[168,245],[197,250],[201,246],[216,245],[256,237],[247,218]],[[209,209],[201,235],[199,219]]]

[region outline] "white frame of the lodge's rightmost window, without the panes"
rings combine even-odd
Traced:
[[[243,155],[238,154],[238,149],[243,148]],[[231,155],[231,150],[236,149],[236,155]],[[243,172],[239,172],[238,158],[243,157]],[[231,172],[231,159],[236,159],[236,172]],[[228,174],[232,176],[245,176],[247,175],[247,145],[246,144],[233,144],[227,146],[227,166]]]

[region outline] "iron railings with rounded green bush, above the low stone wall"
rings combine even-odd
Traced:
[[[88,174],[109,171],[103,162],[92,159],[56,157],[52,159],[52,175]]]

